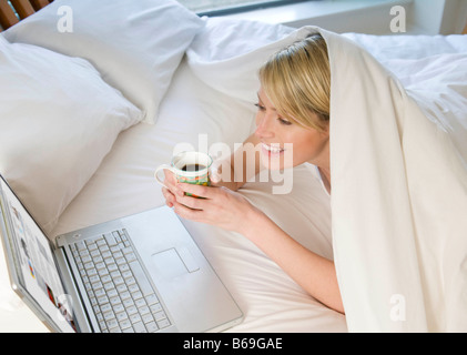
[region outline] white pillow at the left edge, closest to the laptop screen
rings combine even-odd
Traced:
[[[50,232],[142,112],[85,60],[0,36],[0,173]]]

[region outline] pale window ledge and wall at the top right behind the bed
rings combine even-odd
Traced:
[[[232,18],[314,24],[334,32],[392,34],[390,9],[406,10],[407,34],[461,33],[467,22],[467,0],[324,0],[232,14]]]

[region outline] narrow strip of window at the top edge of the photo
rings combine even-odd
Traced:
[[[200,16],[227,14],[309,0],[177,0]]]

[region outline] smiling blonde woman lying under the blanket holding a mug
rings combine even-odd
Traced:
[[[323,185],[331,193],[331,72],[325,40],[321,34],[312,34],[281,50],[261,68],[260,80],[256,131],[245,141],[261,145],[255,173],[260,172],[261,161],[270,169],[308,162],[317,166]],[[293,144],[292,162],[284,159],[287,143]],[[237,154],[246,152],[240,149],[234,153]],[[234,161],[232,156],[230,179],[216,181],[212,176],[212,186],[176,183],[172,173],[166,172],[169,189],[163,187],[166,204],[184,219],[241,233],[312,296],[344,313],[334,263],[302,246],[235,192],[247,181],[248,169],[243,159],[243,176],[237,176]],[[205,199],[186,196],[185,192]]]

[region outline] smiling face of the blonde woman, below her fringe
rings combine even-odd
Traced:
[[[303,128],[282,118],[267,99],[258,92],[255,134],[260,139],[264,166],[271,170],[297,166],[305,162],[329,165],[329,133]]]

